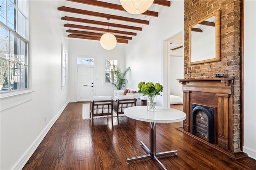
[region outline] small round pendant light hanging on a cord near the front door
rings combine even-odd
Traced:
[[[110,20],[110,18],[107,18],[107,20]],[[116,37],[109,33],[109,26],[108,26],[108,33],[105,33],[100,38],[100,45],[102,48],[111,50],[116,47]]]

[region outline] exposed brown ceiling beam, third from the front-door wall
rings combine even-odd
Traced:
[[[64,27],[69,27],[69,28],[80,28],[80,29],[85,29],[85,30],[94,30],[94,31],[102,31],[102,32],[112,32],[112,33],[117,33],[117,34],[126,34],[126,35],[131,35],[131,36],[136,36],[136,32],[126,32],[126,31],[119,31],[119,30],[108,30],[105,28],[96,28],[96,27],[89,27],[89,26],[81,26],[81,25],[75,25],[75,24],[64,24]]]

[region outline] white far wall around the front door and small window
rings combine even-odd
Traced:
[[[118,67],[124,70],[124,44],[118,43],[112,50],[103,49],[99,41],[80,40],[70,38],[69,41],[70,57],[70,89],[69,97],[76,101],[76,80],[77,80],[77,57],[94,58],[94,95],[113,95],[116,89],[112,84],[104,84],[105,81],[105,59],[117,59]]]

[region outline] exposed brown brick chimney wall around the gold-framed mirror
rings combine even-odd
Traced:
[[[240,0],[185,0],[184,5],[184,78],[215,78],[214,74],[223,73],[224,77],[234,79],[233,85],[233,151],[240,151]],[[189,64],[189,26],[198,20],[221,11],[221,60],[211,63]]]

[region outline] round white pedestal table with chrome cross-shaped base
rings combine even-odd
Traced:
[[[140,145],[148,152],[148,154],[143,156],[136,156],[133,158],[127,158],[127,164],[130,164],[131,161],[135,160],[153,158],[164,170],[167,170],[156,156],[164,156],[168,154],[177,155],[177,150],[156,153],[156,123],[180,122],[186,119],[186,113],[167,107],[156,107],[156,111],[153,112],[147,111],[146,106],[134,106],[124,109],[124,115],[138,121],[150,123],[150,147],[148,148],[142,141],[140,141]]]

